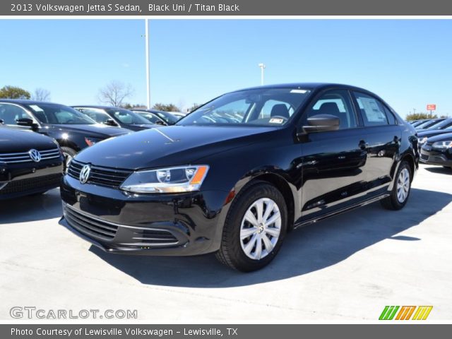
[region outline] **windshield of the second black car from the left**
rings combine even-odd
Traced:
[[[92,125],[96,121],[76,111],[72,107],[56,104],[27,105],[32,110],[42,124],[61,124],[61,125]]]

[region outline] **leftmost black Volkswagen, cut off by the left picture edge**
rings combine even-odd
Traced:
[[[58,187],[64,157],[56,141],[0,124],[0,200]]]

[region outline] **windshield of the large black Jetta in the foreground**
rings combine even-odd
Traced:
[[[307,99],[302,88],[259,88],[228,93],[208,102],[177,125],[283,126]]]

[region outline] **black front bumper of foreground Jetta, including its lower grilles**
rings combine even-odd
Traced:
[[[65,176],[60,225],[109,253],[193,256],[217,251],[227,192],[127,194]]]

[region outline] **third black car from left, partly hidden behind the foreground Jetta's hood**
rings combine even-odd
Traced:
[[[73,108],[100,124],[117,126],[131,131],[143,131],[143,129],[152,129],[157,126],[155,124],[150,124],[148,119],[129,111],[129,109],[90,105],[78,105],[73,106]]]

